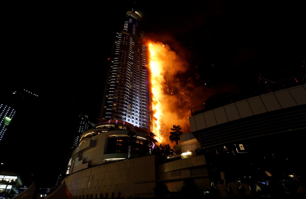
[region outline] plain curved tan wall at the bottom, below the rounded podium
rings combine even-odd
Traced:
[[[80,170],[67,176],[65,181],[73,196],[93,195],[93,198],[152,196],[155,187],[156,156],[127,159]],[[85,197],[86,198],[86,197]],[[89,197],[90,198],[90,197]]]

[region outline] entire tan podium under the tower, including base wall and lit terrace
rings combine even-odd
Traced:
[[[166,159],[149,154],[148,135],[125,121],[96,124],[82,134],[62,182],[77,199],[153,197],[157,182],[177,193],[186,178],[210,189],[205,157],[195,153],[199,143],[192,134],[182,139],[182,154]]]

